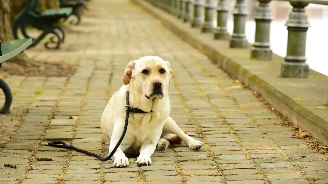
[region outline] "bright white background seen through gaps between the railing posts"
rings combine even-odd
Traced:
[[[233,32],[233,15],[232,10],[235,5],[234,1],[230,3],[230,17],[228,20],[228,31]],[[246,22],[246,38],[249,43],[253,44],[255,39],[255,20],[254,14],[258,6],[257,0],[245,0],[249,14]],[[273,52],[281,57],[286,56],[287,51],[287,27],[285,23],[291,12],[292,6],[285,1],[271,1],[270,7],[274,20],[271,22],[270,44]],[[311,27],[307,31],[306,40],[306,63],[310,68],[328,76],[328,6],[309,4],[306,8],[308,20]],[[216,26],[216,21],[214,22]]]

